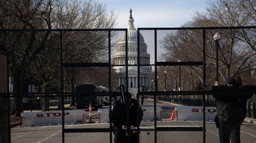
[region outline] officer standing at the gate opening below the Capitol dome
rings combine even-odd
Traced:
[[[128,94],[130,128],[139,127],[139,125],[137,125],[137,102],[136,100],[132,99],[130,92]],[[143,112],[139,105],[139,124],[142,121],[142,117]],[[114,101],[109,118],[112,119],[113,128],[115,129],[115,143],[126,143],[128,136],[130,136],[130,143],[137,143],[137,132],[127,133],[125,131],[127,129],[126,105],[122,104],[120,100]]]

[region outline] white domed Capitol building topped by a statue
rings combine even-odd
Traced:
[[[130,17],[128,19],[127,27],[127,42],[128,42],[128,92],[133,94],[138,93],[138,69],[137,69],[137,30],[134,28],[134,19],[132,18],[132,10],[130,10]],[[151,69],[150,54],[147,53],[147,45],[144,42],[143,36],[140,34],[140,65],[147,65],[140,67],[140,87],[145,87],[145,91],[150,89],[149,74]],[[115,53],[113,54],[114,65],[125,65],[125,32],[121,34],[115,45]],[[134,65],[134,66],[132,66]],[[125,66],[115,67],[117,73],[117,83],[119,85],[126,85],[126,71]],[[125,88],[126,89],[126,88]]]

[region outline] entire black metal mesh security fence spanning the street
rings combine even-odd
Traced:
[[[255,28],[2,30],[1,129],[13,143],[219,142],[212,95],[254,94],[240,135],[255,142],[255,89],[211,91],[256,85]]]

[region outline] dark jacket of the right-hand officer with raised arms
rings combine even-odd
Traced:
[[[236,92],[236,91],[252,91],[255,90],[254,85],[245,85],[242,87],[236,86],[213,86],[211,91],[217,91],[218,94],[213,94],[217,100],[217,114],[221,121],[230,125],[241,125],[246,116],[246,101],[251,95],[223,95],[221,91]]]

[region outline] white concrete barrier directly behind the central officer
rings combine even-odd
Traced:
[[[154,121],[154,107],[142,107],[142,121]],[[98,109],[98,123],[109,123],[109,109]],[[162,108],[156,107],[156,119],[162,120]]]

